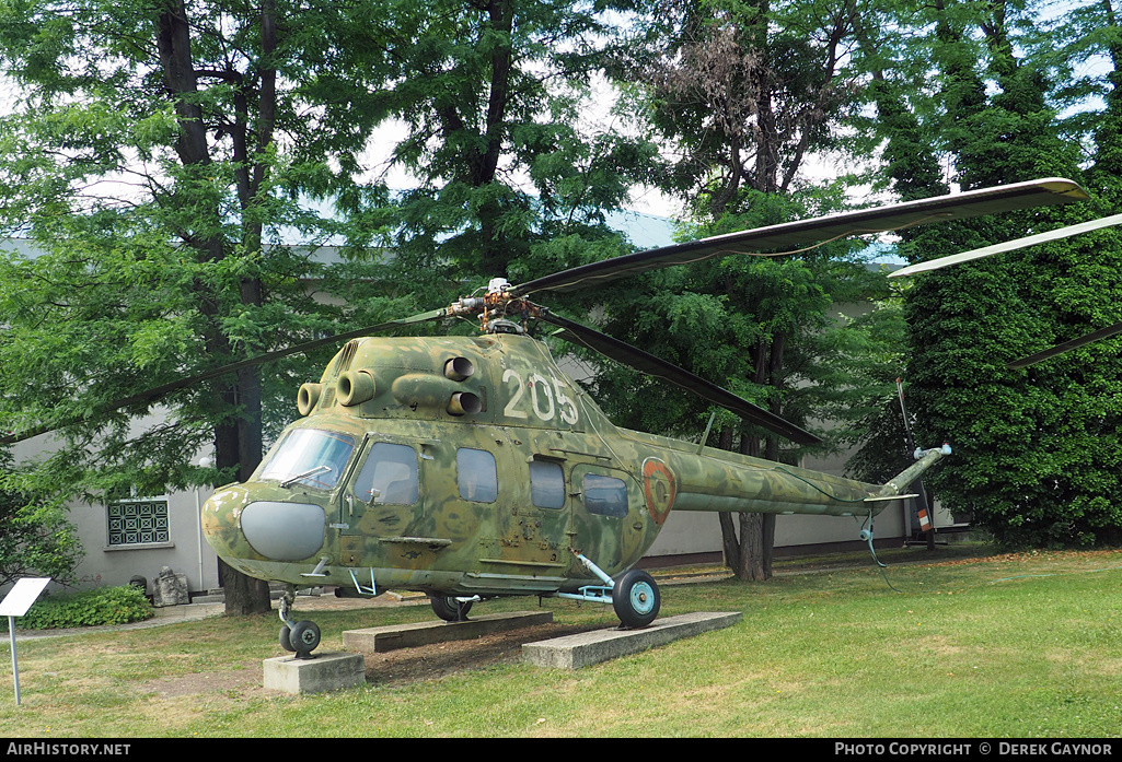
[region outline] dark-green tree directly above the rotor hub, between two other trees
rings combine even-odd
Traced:
[[[609,19],[632,4],[433,0],[346,30],[356,68],[373,59],[367,108],[407,130],[390,165],[417,185],[368,210],[399,267],[459,289],[622,251],[605,214],[650,179],[655,151],[587,114],[619,44]]]

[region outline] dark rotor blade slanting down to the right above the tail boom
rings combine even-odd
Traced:
[[[607,334],[594,331],[592,328],[581,325],[580,323],[573,323],[568,318],[561,317],[560,315],[555,315],[548,310],[542,310],[542,313],[543,314],[539,316],[539,319],[552,323],[561,328],[561,331],[553,334],[560,338],[596,350],[600,354],[622,362],[623,364],[634,368],[637,371],[642,371],[647,375],[653,375],[657,379],[662,379],[663,381],[669,381],[675,387],[693,392],[703,400],[720,406],[726,410],[732,410],[745,420],[757,424],[758,426],[784,436],[800,445],[818,445],[822,442],[810,431],[799,428],[794,424],[780,418],[770,410],[764,410],[746,399],[737,397],[733,392],[721,389],[717,384],[706,381],[699,375],[690,373],[683,368],[679,368],[678,365],[669,363],[665,360],[655,357],[653,354],[644,352],[637,346],[632,346],[631,344],[622,342],[618,338],[613,338]]]

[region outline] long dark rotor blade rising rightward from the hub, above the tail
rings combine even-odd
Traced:
[[[511,294],[513,296],[527,296],[534,291],[543,290],[569,291],[626,275],[697,262],[712,257],[728,254],[778,257],[849,235],[881,233],[931,222],[965,220],[983,214],[996,214],[1049,204],[1068,204],[1087,198],[1089,198],[1087,192],[1077,184],[1055,177],[995,188],[968,190],[902,204],[889,204],[811,220],[787,222],[767,227],[756,227],[615,257],[514,286]],[[758,249],[779,251],[762,253]]]

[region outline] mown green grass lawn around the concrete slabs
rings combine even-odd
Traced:
[[[885,576],[867,557],[849,568],[827,558],[809,574],[783,563],[787,574],[765,584],[664,584],[664,616],[744,617],[571,672],[500,665],[287,696],[259,678],[229,680],[280,654],[275,616],[21,641],[22,706],[7,667],[0,723],[34,737],[1118,737],[1122,551],[947,560],[963,552],[885,554]],[[601,606],[545,605],[561,623],[616,623]],[[426,606],[314,614],[321,648],[339,648],[343,630],[431,617]],[[193,678],[203,684],[194,693],[160,693]]]

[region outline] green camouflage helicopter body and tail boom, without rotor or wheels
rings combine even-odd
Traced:
[[[572,592],[573,551],[615,575],[671,510],[866,515],[900,492],[617,428],[515,334],[351,341],[300,408],[203,509],[226,563],[295,585]]]

